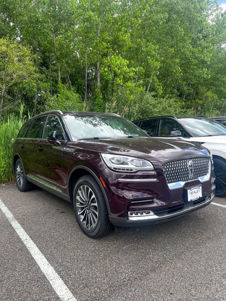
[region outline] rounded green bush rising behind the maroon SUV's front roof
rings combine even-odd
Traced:
[[[59,83],[58,93],[46,100],[41,110],[83,111],[84,105],[81,96],[74,89]]]

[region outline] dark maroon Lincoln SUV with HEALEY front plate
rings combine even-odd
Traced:
[[[90,237],[150,225],[200,209],[214,198],[212,159],[201,145],[151,138],[117,114],[39,114],[14,143],[20,191],[35,184],[73,203]]]

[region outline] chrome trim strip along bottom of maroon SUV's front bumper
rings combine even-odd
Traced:
[[[129,221],[151,221],[151,220],[158,220],[158,219],[162,220],[164,218],[166,218],[166,219],[173,218],[173,217],[179,216],[181,214],[187,213],[189,211],[193,211],[195,209],[201,208],[201,207],[203,207],[205,205],[208,205],[209,203],[212,202],[212,200],[214,199],[214,197],[215,197],[215,195],[213,195],[212,197],[210,196],[210,199],[207,199],[205,202],[203,202],[201,204],[190,206],[189,208],[182,209],[182,210],[177,211],[175,213],[161,215],[161,216],[157,216],[155,214],[154,215],[146,215],[146,216],[142,216],[142,215],[140,215],[140,216],[132,216],[132,217],[127,216],[127,219]]]

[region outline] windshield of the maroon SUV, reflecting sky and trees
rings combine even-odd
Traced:
[[[136,125],[119,116],[67,114],[64,120],[73,139],[116,138],[127,136],[149,137]]]

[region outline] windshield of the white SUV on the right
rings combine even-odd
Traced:
[[[226,126],[207,118],[180,118],[194,137],[226,135]]]

